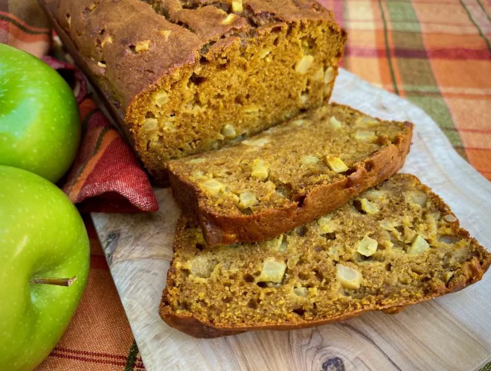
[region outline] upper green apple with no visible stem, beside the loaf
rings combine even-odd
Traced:
[[[55,183],[75,159],[80,129],[65,80],[35,56],[0,44],[0,164]]]

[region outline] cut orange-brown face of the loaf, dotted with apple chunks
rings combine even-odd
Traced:
[[[138,101],[136,149],[149,171],[267,129],[330,97],[344,34],[323,22],[269,24],[205,46]]]

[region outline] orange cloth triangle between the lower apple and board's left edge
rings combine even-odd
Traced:
[[[90,271],[81,304],[65,334],[37,371],[144,370],[90,216]]]

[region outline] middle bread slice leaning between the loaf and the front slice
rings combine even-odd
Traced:
[[[272,238],[387,179],[412,125],[326,105],[232,147],[168,163],[174,197],[208,245]]]

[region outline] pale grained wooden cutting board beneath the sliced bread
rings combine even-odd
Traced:
[[[415,124],[404,172],[418,176],[491,248],[491,183],[468,165],[421,109],[344,70],[333,101]],[[94,213],[111,274],[148,370],[476,370],[491,358],[491,272],[457,293],[406,308],[295,331],[194,339],[159,317],[179,215],[168,189],[160,211]]]

